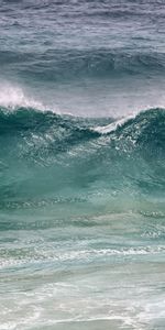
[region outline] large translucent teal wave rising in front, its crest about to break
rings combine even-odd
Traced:
[[[128,205],[125,196],[164,200],[164,109],[141,112],[120,124],[107,118],[1,109],[0,132],[1,208],[72,208],[97,202],[97,196],[113,208],[119,200]]]

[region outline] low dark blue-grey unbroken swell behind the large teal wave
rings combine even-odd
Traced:
[[[84,46],[85,47],[85,46]],[[122,50],[45,50],[42,53],[1,51],[4,68],[16,69],[21,75],[35,79],[64,80],[78,77],[112,77],[123,74],[154,73],[165,70],[165,54]],[[21,67],[20,67],[21,63]]]

